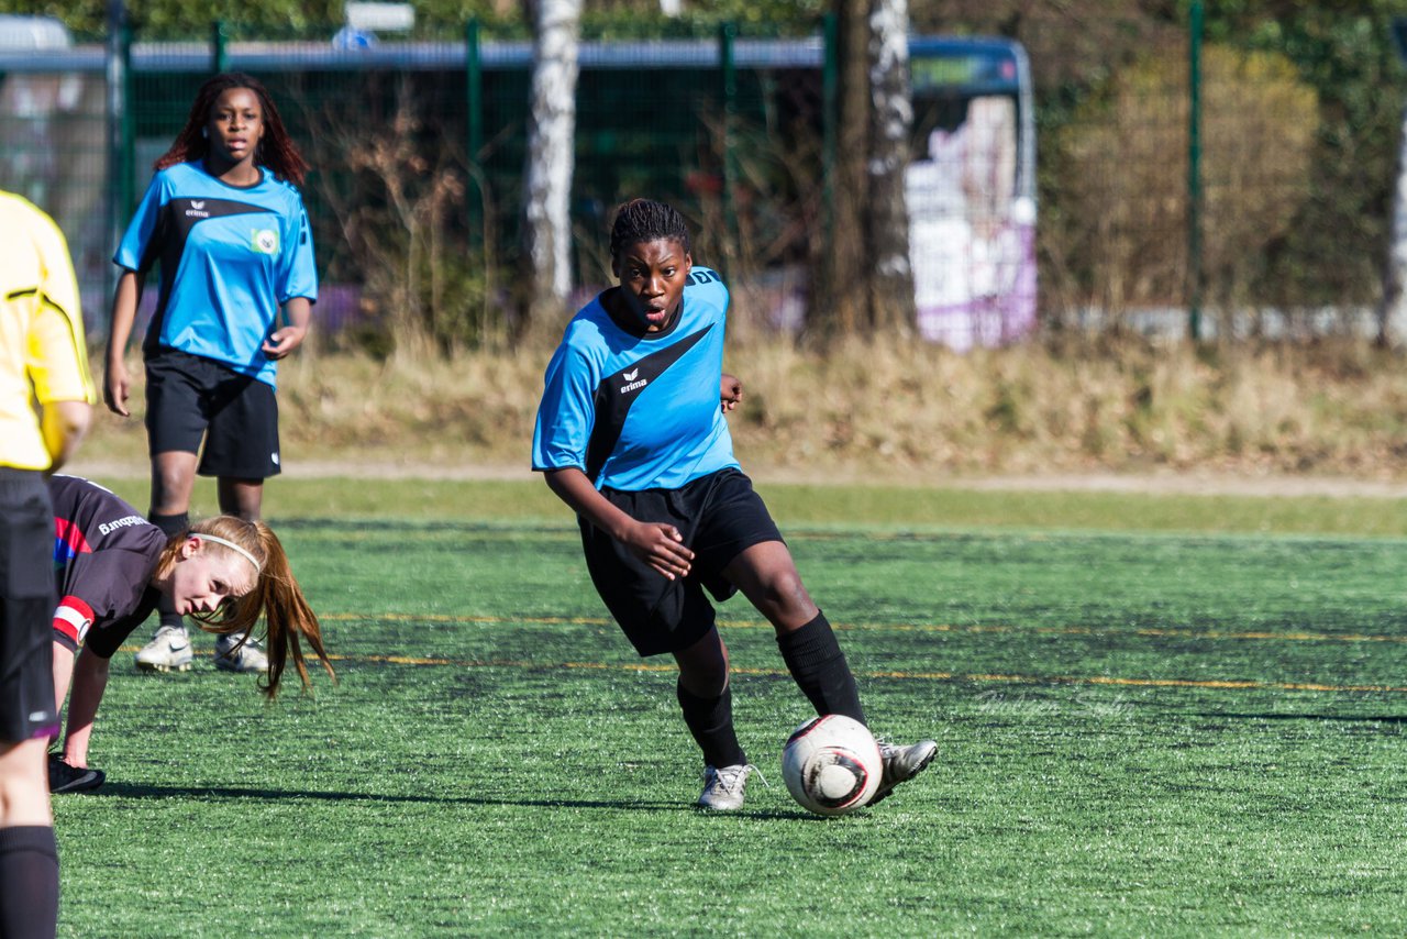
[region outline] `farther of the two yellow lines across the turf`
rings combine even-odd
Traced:
[[[408,614],[408,612],[387,612],[387,614],[360,614],[360,612],[332,612],[321,615],[319,619],[324,622],[357,622],[362,619],[380,619],[384,622],[435,622],[435,624],[478,624],[478,625],[507,625],[515,622],[533,624],[533,625],[547,625],[547,626],[609,626],[611,619],[605,617],[466,617],[466,615],[449,615],[449,614]],[[756,621],[727,621],[720,619],[719,626],[725,629],[771,629],[771,625],[765,622]],[[1138,629],[1130,629],[1127,632],[1120,632],[1119,629],[1096,629],[1095,626],[1012,626],[1012,625],[991,625],[991,626],[960,626],[954,624],[909,624],[909,622],[889,622],[889,624],[832,624],[836,629],[848,631],[888,631],[888,632],[968,632],[968,634],[1027,634],[1027,635],[1057,635],[1057,636],[1093,636],[1093,635],[1131,635],[1131,636],[1145,636],[1152,639],[1216,639],[1216,641],[1254,641],[1254,642],[1387,642],[1387,643],[1404,643],[1407,642],[1407,635],[1401,636],[1384,636],[1373,634],[1332,634],[1332,632],[1263,632],[1263,631],[1242,631],[1242,632],[1224,632],[1220,629],[1159,629],[1154,626],[1144,626]]]

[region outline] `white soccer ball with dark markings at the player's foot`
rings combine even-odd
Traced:
[[[870,729],[841,714],[802,724],[782,750],[787,791],[817,815],[844,815],[879,788],[884,760]]]

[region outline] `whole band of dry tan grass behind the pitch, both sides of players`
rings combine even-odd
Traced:
[[[280,374],[286,463],[526,469],[550,349],[308,353]],[[734,348],[743,465],[799,479],[1214,470],[1407,479],[1407,374],[1363,345],[1031,344],[957,355],[892,339]],[[139,374],[139,370],[136,370]],[[142,466],[104,414],[84,460]]]

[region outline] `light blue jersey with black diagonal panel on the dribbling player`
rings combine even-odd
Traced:
[[[695,266],[660,332],[618,322],[597,297],[547,363],[536,470],[577,467],[597,489],[680,489],[737,467],[719,405],[727,287]]]

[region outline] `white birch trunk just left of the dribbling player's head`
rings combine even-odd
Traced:
[[[528,165],[523,168],[528,328],[560,325],[571,293],[571,173],[582,0],[535,0]]]

